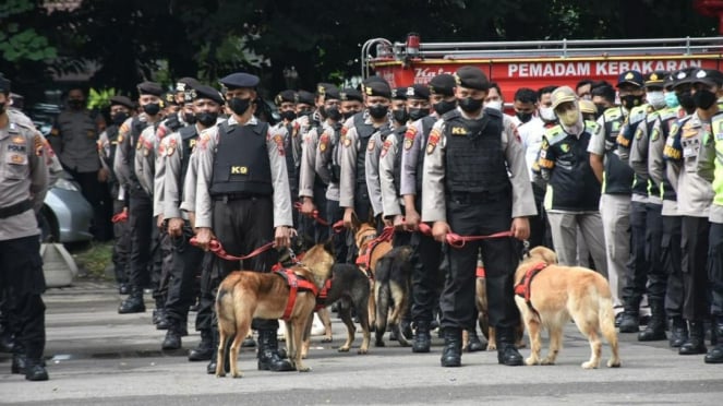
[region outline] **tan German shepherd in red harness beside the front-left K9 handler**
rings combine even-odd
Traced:
[[[297,264],[290,270],[296,276],[313,283],[321,290],[330,276],[333,265],[333,247],[330,242],[327,242],[316,244],[306,251],[303,263]],[[229,357],[231,375],[233,378],[242,375],[238,369],[237,358],[241,342],[251,327],[252,319],[281,319],[289,301],[290,291],[287,280],[274,273],[236,271],[221,282],[216,297],[219,332],[216,377],[226,375],[224,357]],[[312,291],[299,289],[286,323],[289,337],[287,339],[289,359],[300,372],[311,370],[301,361],[301,343],[315,306],[315,295]],[[231,338],[233,342],[229,354],[226,354],[226,343]]]

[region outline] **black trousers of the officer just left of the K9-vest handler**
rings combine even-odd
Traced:
[[[169,237],[172,261],[168,277],[166,315],[183,327],[189,319],[189,308],[195,299],[193,295],[195,278],[206,255],[204,251],[189,243],[191,237],[193,230],[188,222],[183,226],[181,237]]]

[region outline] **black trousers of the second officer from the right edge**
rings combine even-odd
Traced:
[[[683,216],[683,318],[702,321],[710,315],[708,300],[708,217]]]

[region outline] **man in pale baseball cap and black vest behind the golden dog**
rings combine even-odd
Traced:
[[[579,101],[568,86],[552,93],[552,108],[559,124],[545,131],[540,146],[542,187],[546,187],[544,208],[553,244],[561,264],[578,263],[578,232],[595,268],[607,276],[604,237],[600,218],[600,182],[590,167],[588,144],[598,124],[583,121]]]

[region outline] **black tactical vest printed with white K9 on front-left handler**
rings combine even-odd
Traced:
[[[218,126],[218,145],[212,175],[210,195],[272,195],[272,164],[266,134],[268,123]]]

